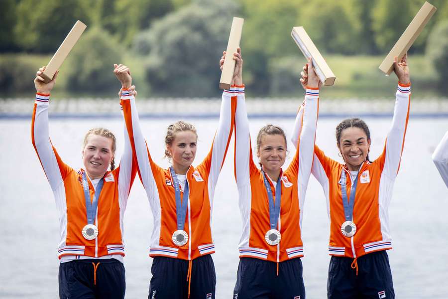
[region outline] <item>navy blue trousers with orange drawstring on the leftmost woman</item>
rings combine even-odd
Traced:
[[[100,263],[96,273],[92,263]],[[59,265],[60,299],[123,299],[125,290],[124,266],[115,259],[75,260]]]

